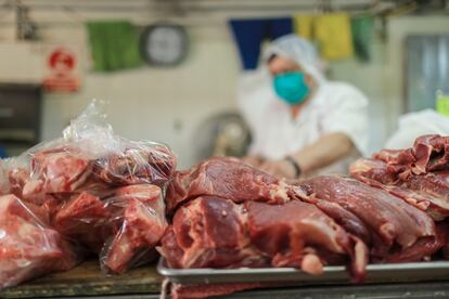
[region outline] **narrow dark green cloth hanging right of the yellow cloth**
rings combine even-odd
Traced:
[[[374,20],[371,15],[354,16],[350,21],[354,51],[361,62],[371,60],[373,26]]]

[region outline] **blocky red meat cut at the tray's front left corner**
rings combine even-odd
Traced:
[[[239,268],[269,264],[251,244],[243,206],[198,197],[180,207],[159,252],[172,268]]]

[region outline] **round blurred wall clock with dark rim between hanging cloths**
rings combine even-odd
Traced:
[[[140,48],[149,64],[177,65],[185,57],[188,36],[181,26],[154,25],[143,31]]]

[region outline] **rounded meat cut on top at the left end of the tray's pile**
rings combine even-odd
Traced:
[[[282,204],[290,200],[288,184],[236,158],[210,158],[190,170],[177,172],[170,181],[167,212],[197,196],[214,195],[235,203],[259,200]]]

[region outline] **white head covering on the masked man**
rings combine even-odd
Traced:
[[[312,76],[318,84],[325,82],[323,62],[319,57],[315,47],[308,40],[293,34],[277,38],[264,54],[265,60],[268,60],[272,55],[293,60],[306,73]]]

